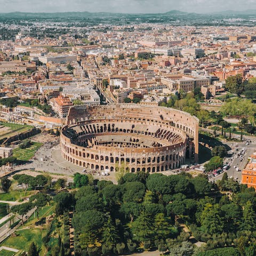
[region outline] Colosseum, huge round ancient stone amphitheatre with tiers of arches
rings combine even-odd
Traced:
[[[75,106],[61,129],[62,157],[93,170],[160,172],[198,161],[198,119],[139,104]],[[124,163],[124,165],[123,165]]]

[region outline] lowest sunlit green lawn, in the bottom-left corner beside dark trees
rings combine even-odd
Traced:
[[[41,248],[40,255],[44,255],[46,249],[43,245],[42,238],[46,235],[46,230],[37,228],[23,229],[16,231],[15,234],[17,235],[16,237],[9,237],[3,243],[0,244],[0,247],[7,246],[12,247],[14,249],[27,251],[29,249],[30,244],[32,242],[35,242],[37,246]],[[6,256],[6,254],[3,255]]]

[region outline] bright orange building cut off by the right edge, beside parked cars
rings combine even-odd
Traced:
[[[246,184],[247,187],[253,187],[256,190],[256,155],[252,156],[251,161],[245,166],[242,171],[242,184]]]

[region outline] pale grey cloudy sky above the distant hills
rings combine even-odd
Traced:
[[[256,9],[256,0],[0,0],[0,12],[207,13]]]

